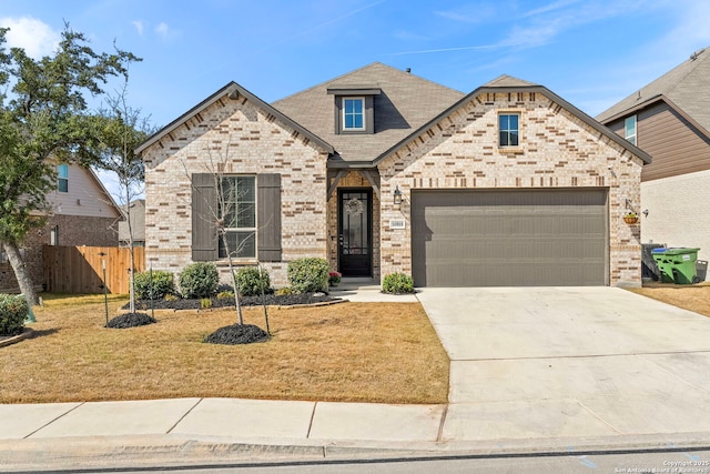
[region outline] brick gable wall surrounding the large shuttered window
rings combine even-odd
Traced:
[[[282,262],[265,264],[275,286],[286,284],[287,262],[327,258],[327,153],[246,99],[219,99],[144,160],[145,254],[154,270],[179,273],[192,263],[192,173],[281,174]],[[217,264],[229,283],[226,263]]]

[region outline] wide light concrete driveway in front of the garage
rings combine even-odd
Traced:
[[[710,317],[615,288],[424,289],[443,440],[710,433]]]

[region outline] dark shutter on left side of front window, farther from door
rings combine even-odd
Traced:
[[[192,260],[213,262],[217,259],[217,229],[214,218],[217,199],[214,175],[192,175]]]

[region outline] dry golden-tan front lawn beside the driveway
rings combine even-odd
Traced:
[[[34,336],[0,349],[0,403],[244,397],[446,403],[449,361],[416,303],[270,307],[265,343],[203,343],[234,310],[156,311],[105,329],[102,296],[44,296]],[[109,317],[125,297],[112,296]],[[261,307],[244,322],[264,329]]]

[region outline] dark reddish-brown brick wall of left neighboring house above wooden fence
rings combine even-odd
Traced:
[[[41,229],[30,232],[22,244],[26,264],[34,285],[44,284],[44,252],[50,244],[50,230],[59,230],[59,245],[118,246],[118,223],[113,218],[88,218],[81,215],[53,215]],[[0,262],[0,291],[16,291],[14,271],[9,262]]]

